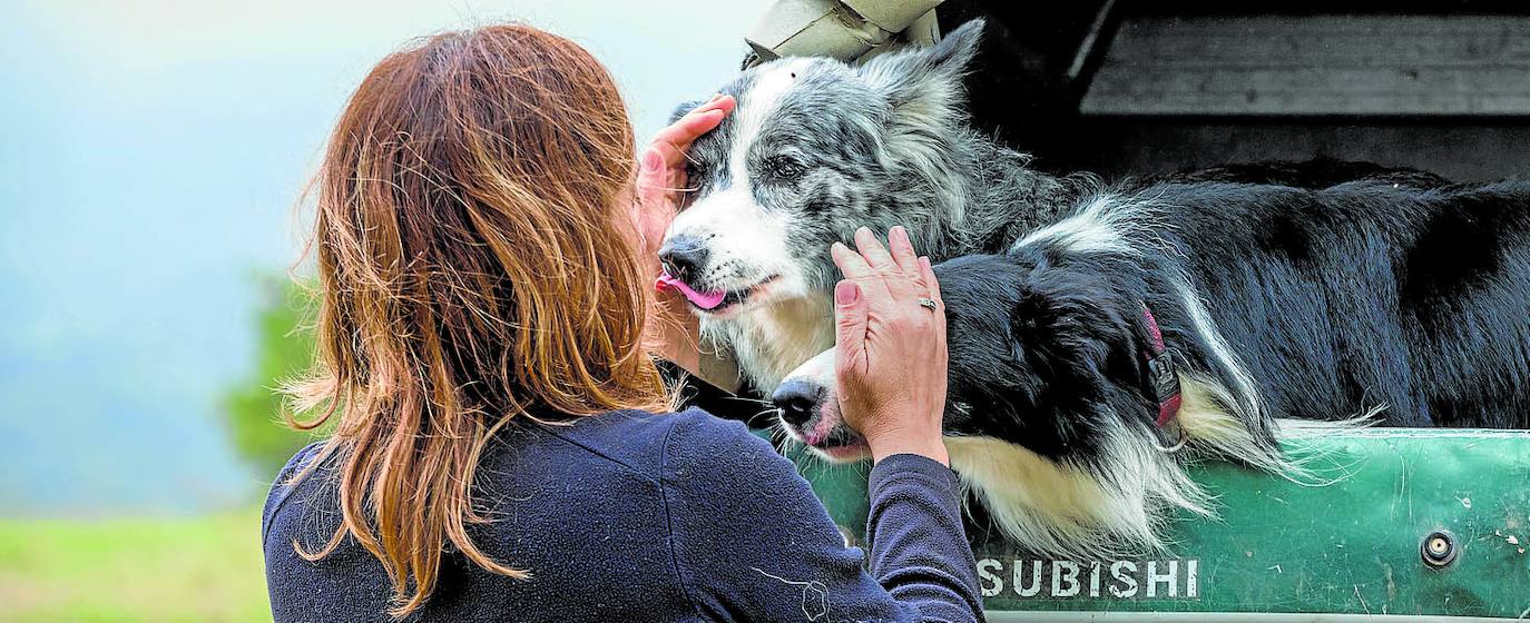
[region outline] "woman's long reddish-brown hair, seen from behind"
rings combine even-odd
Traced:
[[[633,137],[615,82],[569,40],[493,26],[382,60],[315,180],[318,363],[300,426],[330,418],[343,527],[396,609],[465,533],[483,441],[514,417],[662,408],[641,348],[647,284],[629,203]],[[464,478],[467,475],[468,478]]]

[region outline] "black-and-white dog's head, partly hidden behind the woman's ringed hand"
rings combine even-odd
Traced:
[[[1106,284],[1105,270],[1005,255],[935,266],[950,351],[947,437],[1086,461],[1112,428],[1152,421],[1141,302]],[[791,437],[831,460],[864,457],[840,417],[832,350],[793,371],[773,399]]]

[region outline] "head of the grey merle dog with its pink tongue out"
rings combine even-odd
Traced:
[[[852,67],[783,58],[722,89],[737,108],[688,153],[687,191],[659,252],[704,318],[728,318],[834,286],[829,244],[906,224],[921,250],[944,218],[935,197],[961,131],[961,76],[982,23]],[[684,104],[676,116],[695,104]]]

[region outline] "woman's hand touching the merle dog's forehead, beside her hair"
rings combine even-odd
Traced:
[[[633,203],[633,220],[641,241],[643,267],[652,279],[664,270],[659,266],[659,246],[679,211],[679,194],[685,188],[685,151],[690,144],[711,131],[733,113],[737,102],[731,95],[715,95],[679,121],[659,130],[638,157],[638,200]],[[661,357],[699,373],[699,328],[682,296],[672,290],[658,293],[659,308],[652,315],[655,322],[650,348]]]

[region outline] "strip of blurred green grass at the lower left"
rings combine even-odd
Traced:
[[[0,621],[269,621],[251,508],[0,519]]]

